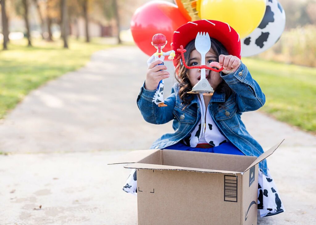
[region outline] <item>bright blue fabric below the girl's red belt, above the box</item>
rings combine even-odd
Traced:
[[[212,152],[212,153],[221,153],[221,154],[230,154],[230,155],[245,155],[239,149],[237,149],[232,143],[225,142],[219,146],[204,149],[204,148],[192,148],[183,143],[176,143],[166,147],[165,149],[174,149],[174,150],[182,150],[182,151],[195,151],[195,152]]]

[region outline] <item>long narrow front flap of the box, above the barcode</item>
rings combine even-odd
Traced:
[[[204,173],[229,173],[229,174],[242,173],[242,172],[225,171],[225,170],[210,170],[210,169],[201,169],[201,168],[167,166],[167,165],[156,165],[156,164],[146,164],[146,163],[132,163],[132,164],[125,165],[124,168],[151,169],[151,170],[185,170],[185,171],[204,172]]]

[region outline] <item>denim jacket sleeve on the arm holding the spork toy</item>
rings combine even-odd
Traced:
[[[264,105],[264,93],[242,62],[236,72],[227,75],[221,72],[221,77],[236,93],[236,103],[240,112],[254,111]]]

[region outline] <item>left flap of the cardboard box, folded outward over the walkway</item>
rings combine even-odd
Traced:
[[[140,160],[146,158],[147,156],[154,154],[157,151],[160,151],[160,149],[131,151],[127,154],[118,156],[117,158],[113,159],[112,162],[108,163],[107,165],[121,164],[121,163],[136,163],[136,162],[139,162]]]

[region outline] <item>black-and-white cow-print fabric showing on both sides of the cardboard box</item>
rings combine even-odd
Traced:
[[[279,192],[269,173],[265,176],[259,170],[258,176],[258,210],[260,217],[268,217],[284,212],[284,206],[280,199]],[[137,195],[136,169],[132,169],[123,187],[125,192]]]

